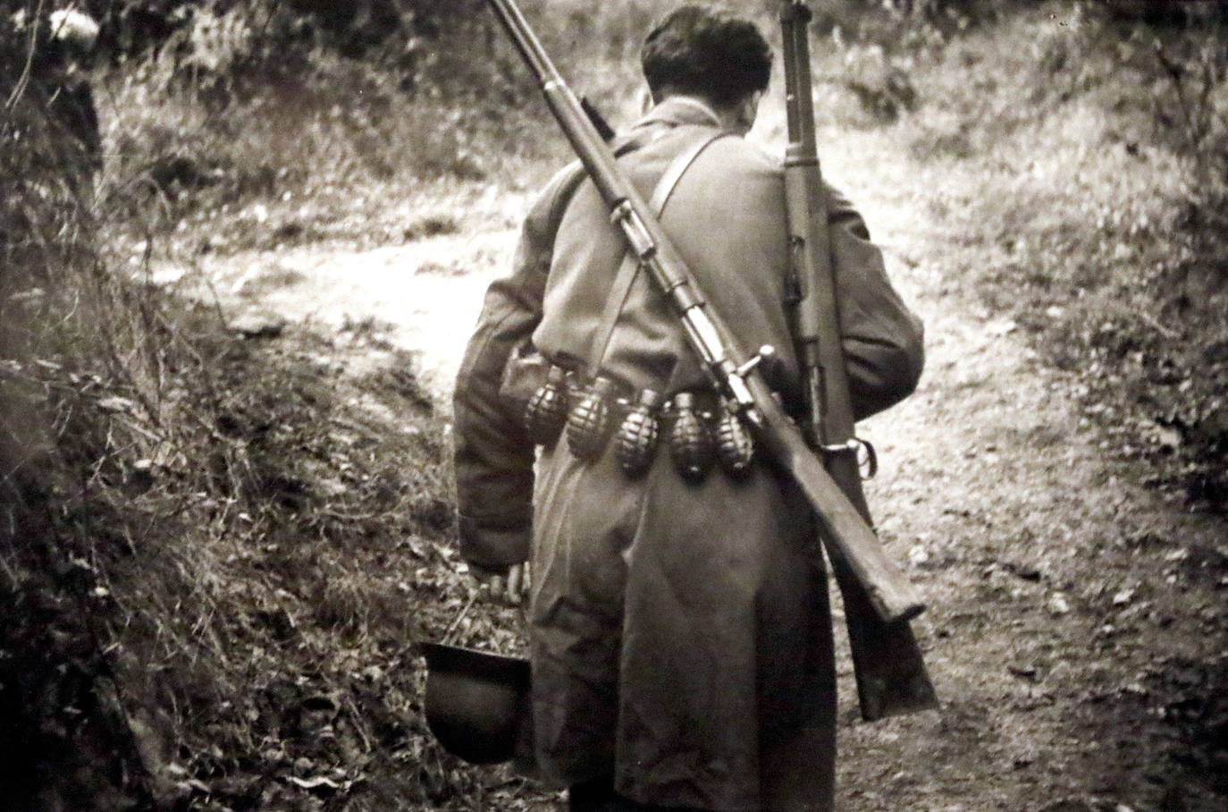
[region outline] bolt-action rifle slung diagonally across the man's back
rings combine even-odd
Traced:
[[[738,346],[734,334],[709,307],[669,236],[618,167],[613,152],[559,75],[515,0],[489,2],[535,76],[550,112],[602,200],[610,209],[612,221],[621,228],[629,248],[668,296],[712,385],[747,421],[769,457],[793,477],[814,507],[829,554],[841,565],[847,565],[883,622],[895,623],[919,614],[923,604],[915,587],[887,558],[862,512],[836,485],[801,430],[777,403],[753,364],[755,356]],[[856,463],[853,467],[856,473]]]

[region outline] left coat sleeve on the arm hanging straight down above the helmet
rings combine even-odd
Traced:
[[[534,448],[523,403],[500,394],[508,360],[530,345],[542,319],[554,233],[582,172],[569,167],[524,220],[511,274],[486,291],[453,394],[460,555],[489,571],[529,556]]]

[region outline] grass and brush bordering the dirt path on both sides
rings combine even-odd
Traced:
[[[523,2],[616,125],[673,5]],[[820,123],[900,156],[911,260],[1068,371],[1106,453],[1223,511],[1228,4],[810,5]],[[440,189],[530,189],[569,160],[537,88],[479,0],[93,0],[88,54],[55,50],[52,4],[0,9],[0,797],[459,803],[398,666],[456,613],[426,569],[443,418],[361,326],[264,350],[147,274],[410,241]],[[348,405],[375,391],[408,423]]]

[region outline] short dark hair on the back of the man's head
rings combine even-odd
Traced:
[[[771,47],[754,23],[704,6],[682,6],[648,33],[640,52],[653,95],[690,93],[728,107],[768,88]]]

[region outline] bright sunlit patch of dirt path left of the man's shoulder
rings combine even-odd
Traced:
[[[524,195],[480,198],[443,233],[368,251],[306,244],[160,263],[154,278],[217,301],[232,324],[258,330],[307,322],[363,330],[409,351],[415,372],[447,408],[464,343],[494,274],[511,263]]]

